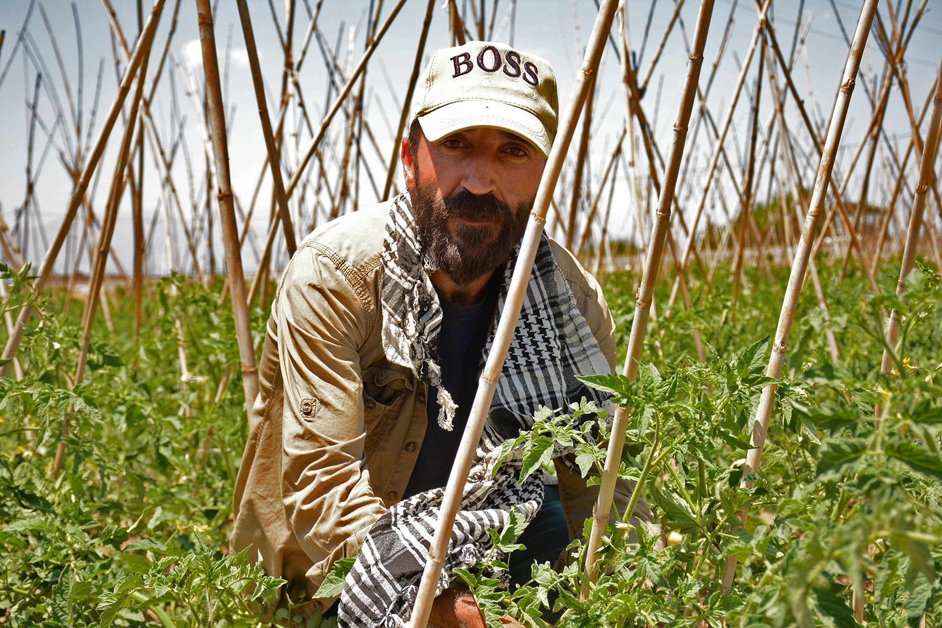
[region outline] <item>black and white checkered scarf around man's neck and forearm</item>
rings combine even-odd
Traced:
[[[507,298],[516,251],[504,269],[498,313]],[[438,424],[451,429],[455,404],[441,386],[437,363],[442,308],[431,284],[435,269],[415,233],[406,196],[392,203],[382,251],[382,346],[386,358],[411,368],[415,377],[439,390]],[[493,332],[481,365],[494,343]],[[577,308],[576,298],[553,258],[544,235],[501,370],[494,401],[477,455],[464,487],[439,590],[447,588],[456,567],[470,568],[493,547],[488,528],[501,530],[510,509],[529,522],[543,505],[539,474],[519,482],[522,459],[511,456],[492,477],[505,440],[529,429],[539,406],[565,409],[581,397],[603,406],[607,399],[576,375],[609,372],[609,363]],[[569,453],[560,445],[556,456]],[[444,481],[445,478],[443,478]],[[391,507],[369,531],[347,576],[340,598],[339,626],[400,628],[412,612],[422,571],[429,557],[444,489],[418,493]]]

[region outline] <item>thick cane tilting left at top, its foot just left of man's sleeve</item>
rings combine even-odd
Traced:
[[[242,388],[246,412],[250,412],[255,397],[258,395],[258,369],[255,366],[252,326],[249,320],[249,307],[245,300],[245,279],[242,275],[238,227],[235,224],[232,183],[229,178],[229,147],[226,139],[225,108],[222,104],[222,92],[219,86],[219,62],[216,57],[216,40],[213,35],[213,13],[209,0],[196,0],[196,8],[200,24],[200,43],[203,49],[206,105],[209,124],[212,128],[213,154],[216,160],[217,185],[219,186],[219,216],[225,246],[226,272],[229,276],[231,291],[229,300],[232,303],[235,320],[235,337],[242,367]]]

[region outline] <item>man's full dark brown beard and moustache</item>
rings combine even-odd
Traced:
[[[424,184],[417,172],[410,197],[419,243],[429,250],[438,269],[461,286],[507,264],[527,229],[533,207],[533,199],[512,208],[493,194],[472,194],[466,189],[440,200],[434,187]],[[449,217],[490,222],[473,225],[453,220],[449,230]]]

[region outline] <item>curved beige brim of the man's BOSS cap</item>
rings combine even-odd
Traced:
[[[478,127],[500,129],[523,137],[544,157],[553,138],[539,118],[526,109],[490,100],[459,101],[442,105],[418,117],[425,137],[436,142],[452,133]]]

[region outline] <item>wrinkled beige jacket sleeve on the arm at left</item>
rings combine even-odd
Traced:
[[[372,310],[370,308],[373,308]],[[339,558],[356,556],[385,512],[364,460],[364,399],[358,347],[371,303],[332,258],[298,250],[278,302],[284,385],[282,494],[300,547],[314,567],[315,588]]]

